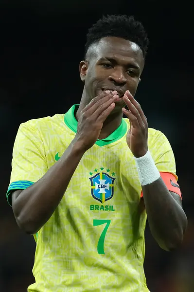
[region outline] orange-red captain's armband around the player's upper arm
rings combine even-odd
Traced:
[[[176,193],[182,199],[180,187],[176,182],[175,176],[170,172],[160,172],[160,176],[164,181],[165,185],[167,186],[168,190],[171,192]],[[143,198],[143,192],[141,191],[141,198]]]

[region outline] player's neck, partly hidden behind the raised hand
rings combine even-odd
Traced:
[[[81,111],[87,106],[90,100],[86,98],[85,90],[83,91],[82,98],[80,101],[79,108],[75,113],[75,118],[78,121]],[[106,118],[105,122],[103,123],[103,128],[101,129],[100,135],[98,139],[103,140],[107,138],[111,133],[113,133],[122,122],[123,111],[122,109],[114,109],[113,112]]]

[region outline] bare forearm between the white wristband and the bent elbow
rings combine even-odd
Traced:
[[[183,239],[187,218],[161,177],[142,186],[147,218],[153,237],[164,250],[175,249]],[[178,196],[178,195],[177,195]]]

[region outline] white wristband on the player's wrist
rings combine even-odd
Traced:
[[[160,177],[159,170],[152,159],[150,151],[142,157],[135,157],[136,166],[141,185],[146,185],[157,181]]]

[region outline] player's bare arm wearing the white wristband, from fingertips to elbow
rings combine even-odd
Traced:
[[[136,159],[150,230],[159,246],[170,251],[181,244],[187,227],[181,198],[168,190],[151,155],[148,157],[148,125],[141,106],[129,92],[125,93],[124,101],[129,110],[123,112],[131,124],[127,144]],[[163,153],[160,154],[162,157]],[[148,159],[143,162],[145,156]]]

